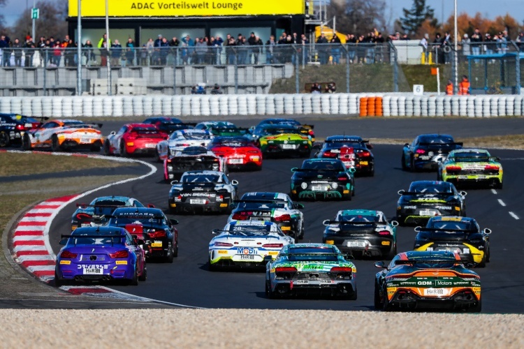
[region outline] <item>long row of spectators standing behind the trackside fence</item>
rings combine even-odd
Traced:
[[[282,64],[318,60],[320,64],[340,64],[342,54],[346,50],[342,48],[342,34],[334,35],[328,40],[326,35],[321,34],[315,40],[317,45],[313,55],[310,40],[304,34],[282,33],[279,38],[270,36],[263,40],[252,32],[248,37],[238,34],[226,38],[221,36],[210,36],[203,38],[165,38],[161,34],[153,40],[150,38],[143,45],[137,45],[132,38],[127,42],[119,43],[119,40],[110,40],[108,43],[105,34],[98,43],[93,44],[86,40],[82,45],[82,64],[107,66],[108,61],[112,66],[165,66],[170,61],[177,64]],[[365,35],[347,34],[345,42],[349,43],[347,58],[350,63],[374,63],[384,59],[379,44],[395,40],[409,40],[407,34],[388,35],[386,38],[374,29]],[[458,43],[463,54],[493,54],[505,53],[508,50],[508,34],[502,31],[493,37],[490,34],[481,34],[479,29],[469,37],[464,34]],[[516,43],[521,52],[524,52],[524,34],[516,37]],[[326,44],[326,45],[323,45]],[[331,44],[331,45],[328,45]],[[333,45],[335,44],[335,45]],[[336,45],[338,44],[338,45]],[[423,51],[428,59],[428,53],[434,51],[438,63],[449,63],[453,54],[451,47],[453,40],[446,32],[443,36],[437,33],[433,40],[426,34],[420,41]],[[0,59],[2,66],[34,66],[34,55],[40,55],[40,65],[46,66],[76,66],[78,63],[77,43],[65,36],[63,40],[52,36],[46,38],[41,36],[35,43],[31,36],[24,39],[10,40],[8,36],[0,36]],[[312,57],[310,57],[312,54]],[[14,57],[14,60],[13,60]],[[264,59],[265,58],[265,59]],[[344,56],[345,58],[345,56]]]

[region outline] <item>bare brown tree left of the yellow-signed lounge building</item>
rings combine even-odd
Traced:
[[[67,0],[39,0],[36,8],[40,9],[40,18],[35,22],[36,38],[33,40],[38,40],[40,36],[63,39],[67,34],[67,6]],[[31,9],[24,10],[10,28],[10,34],[13,38],[24,38],[31,35],[31,27]]]

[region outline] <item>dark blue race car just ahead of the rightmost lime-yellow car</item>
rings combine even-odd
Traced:
[[[451,135],[425,134],[417,136],[412,144],[402,148],[402,170],[436,170],[439,161],[450,151],[462,148]]]

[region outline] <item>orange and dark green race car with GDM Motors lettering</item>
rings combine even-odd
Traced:
[[[481,281],[458,253],[409,251],[395,255],[375,276],[374,308],[452,309],[480,313]]]

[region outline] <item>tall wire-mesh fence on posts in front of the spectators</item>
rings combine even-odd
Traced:
[[[512,41],[460,43],[456,55],[451,45],[423,47],[416,40],[383,44],[182,44],[110,50],[82,47],[80,57],[77,48],[70,47],[0,51],[3,96],[75,94],[79,59],[82,91],[89,94],[309,93],[319,87],[321,93],[394,92],[412,91],[413,84],[423,84],[425,91],[437,91],[437,79],[430,70],[437,66],[442,91],[448,80],[455,82],[456,75],[469,76],[472,91],[479,93],[515,93],[511,87],[524,80],[520,73],[524,43]],[[25,69],[13,69],[17,67]],[[124,89],[129,87],[126,84],[141,88]],[[122,88],[118,91],[119,85]]]

